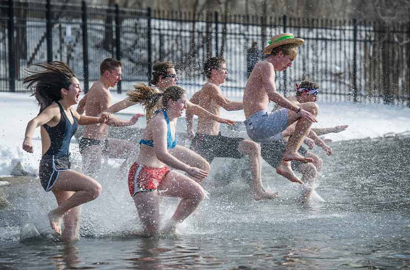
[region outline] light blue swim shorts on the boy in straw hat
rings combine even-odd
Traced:
[[[268,142],[283,138],[282,131],[288,127],[288,110],[285,108],[254,113],[244,122],[248,136],[256,142]]]

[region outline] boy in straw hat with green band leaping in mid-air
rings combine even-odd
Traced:
[[[244,121],[248,136],[256,142],[277,139],[277,135],[293,122],[296,122],[295,132],[288,140],[288,146],[276,172],[292,182],[303,183],[294,174],[291,160],[312,162],[313,159],[297,153],[312,126],[317,122],[318,107],[315,102],[295,105],[276,91],[275,71],[283,71],[292,66],[297,55],[297,48],[303,44],[303,39],[295,38],[293,34],[284,33],[273,36],[264,50],[270,54],[260,61],[253,69],[243,93]],[[269,102],[273,101],[282,109],[268,112]],[[276,135],[276,137],[275,137]]]

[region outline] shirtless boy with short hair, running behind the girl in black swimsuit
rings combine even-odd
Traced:
[[[98,81],[94,82],[90,91],[79,102],[77,107],[79,114],[83,114],[86,111],[87,116],[97,116],[111,106],[112,96],[109,88],[115,87],[117,82],[121,80],[121,66],[121,62],[118,60],[112,58],[104,59],[100,65]],[[101,156],[103,155],[107,155],[110,158],[132,159],[138,154],[138,148],[135,144],[121,139],[108,138],[107,133],[108,126],[132,126],[142,115],[135,114],[129,121],[112,117],[106,124],[91,124],[87,126],[83,137],[78,141],[86,174],[95,176],[98,173],[101,165]]]

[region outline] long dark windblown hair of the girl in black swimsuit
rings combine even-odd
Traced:
[[[40,70],[31,69],[40,68]],[[25,71],[31,75],[23,78],[23,83],[28,84],[27,89],[35,96],[40,106],[40,113],[53,102],[63,98],[61,88],[68,90],[75,77],[74,71],[65,63],[53,61],[50,63],[32,64]]]

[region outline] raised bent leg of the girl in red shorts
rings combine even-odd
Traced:
[[[171,227],[166,228],[166,231],[175,231],[176,223],[182,222],[191,215],[206,194],[197,182],[174,171],[167,174],[158,186],[158,191],[161,191],[161,196],[181,198],[171,218]]]

